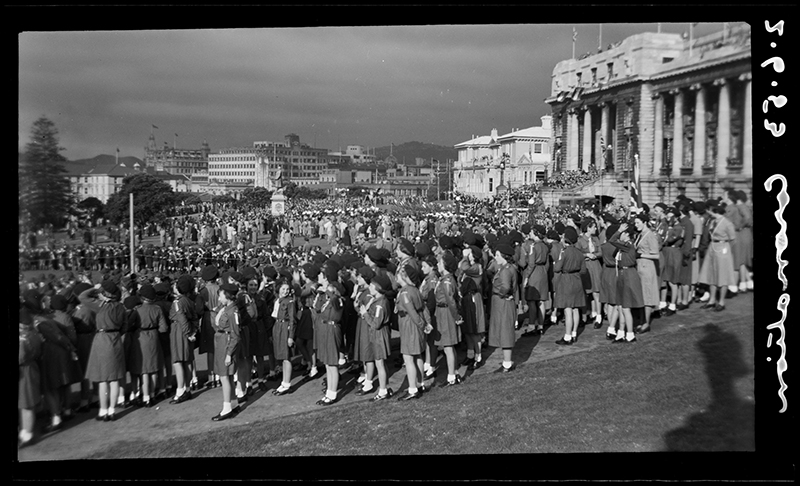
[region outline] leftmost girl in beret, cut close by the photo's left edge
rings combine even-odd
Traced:
[[[20,413],[19,447],[33,441],[36,408],[42,401],[39,359],[43,339],[33,326],[33,319],[25,308],[19,310],[19,385],[17,408]]]

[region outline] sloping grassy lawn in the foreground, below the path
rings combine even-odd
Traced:
[[[94,457],[752,451],[752,319],[711,320],[470,377],[417,401],[357,402],[121,442]]]

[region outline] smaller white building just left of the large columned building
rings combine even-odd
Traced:
[[[541,120],[538,127],[514,129],[505,135],[492,129],[490,135],[473,135],[456,144],[454,190],[487,198],[496,195],[500,186],[514,189],[544,181],[550,165],[552,117],[545,115]]]

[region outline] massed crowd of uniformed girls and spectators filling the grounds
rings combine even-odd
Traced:
[[[487,346],[502,351],[498,371],[513,372],[519,329],[558,326],[556,343],[568,346],[580,327],[605,324],[607,339],[626,345],[656,316],[692,304],[722,311],[732,293],[753,289],[743,192],[641,209],[545,208],[519,225],[479,208],[385,212],[337,199],[291,202],[273,217],[222,207],[175,219],[182,238],[140,244],[134,269],[106,256],[79,257],[59,278],[20,273],[19,444],[34,439],[42,404],[51,432],[75,413],[95,409],[111,422],[120,407],[178,405],[219,387],[211,419],[221,421],[268,380],[281,396],[321,377],[316,403],[327,406],[341,398],[344,366],[374,401],[395,395],[388,370],[403,368],[399,399],[416,400],[437,369],[445,386],[461,383]],[[390,360],[393,330],[400,355]],[[467,356],[457,362],[460,345]],[[207,360],[204,377],[196,355]]]

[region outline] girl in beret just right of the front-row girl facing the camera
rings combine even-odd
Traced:
[[[312,315],[317,322],[314,332],[317,358],[325,363],[327,390],[317,405],[331,405],[336,402],[339,388],[339,352],[342,349],[342,310],[343,302],[337,281],[328,280],[330,272],[320,272],[319,287],[314,301]]]

